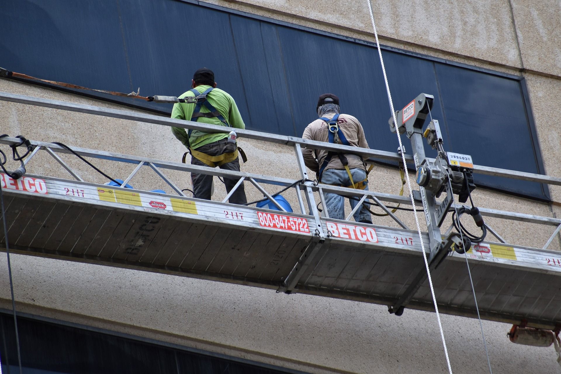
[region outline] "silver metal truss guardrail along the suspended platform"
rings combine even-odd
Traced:
[[[200,130],[205,132],[229,132],[228,128],[222,126],[214,126],[210,124],[191,122],[191,121],[181,121],[177,119],[154,116],[145,113],[135,113],[126,110],[101,108],[101,107],[94,107],[91,105],[67,103],[65,101],[34,98],[25,95],[0,92],[0,100],[11,101],[13,103],[36,105],[40,107],[70,110],[72,112],[95,114],[98,116],[127,119],[130,121],[153,123],[162,126],[182,127],[186,129]],[[233,193],[233,191],[235,191],[235,189],[238,188],[243,181],[248,181],[252,185],[254,185],[257,188],[257,190],[263,193],[264,197],[269,198],[269,200],[281,211],[286,211],[286,210],[284,209],[283,206],[278,204],[278,202],[273,198],[273,195],[275,193],[269,192],[263,186],[263,184],[270,184],[273,186],[281,186],[281,187],[292,186],[292,188],[294,188],[296,191],[296,196],[298,198],[298,205],[301,214],[309,215],[312,217],[313,220],[315,220],[316,227],[318,227],[319,230],[318,234],[320,237],[327,236],[327,233],[321,232],[321,216],[318,209],[316,208],[316,201],[314,195],[315,193],[318,193],[319,199],[323,203],[325,202],[325,193],[337,193],[338,195],[354,197],[360,200],[360,203],[366,200],[370,200],[371,204],[376,204],[380,206],[381,209],[383,209],[386,213],[388,213],[389,217],[392,218],[394,221],[396,221],[396,223],[399,226],[401,226],[404,229],[408,229],[407,225],[403,223],[403,221],[400,220],[395,214],[393,214],[390,208],[388,208],[385,205],[385,203],[392,202],[394,204],[397,203],[402,205],[411,205],[410,198],[408,198],[407,196],[392,195],[389,193],[363,191],[363,190],[355,190],[346,187],[330,186],[328,184],[321,184],[318,183],[317,181],[312,181],[307,174],[307,169],[304,164],[304,159],[302,157],[301,149],[302,147],[307,147],[307,148],[322,149],[322,150],[328,150],[334,152],[354,153],[354,154],[361,155],[363,159],[367,160],[367,162],[373,162],[373,160],[399,161],[401,160],[401,155],[399,155],[398,153],[391,153],[387,151],[372,150],[372,149],[365,149],[365,148],[358,148],[358,147],[351,147],[351,146],[344,146],[344,145],[337,145],[337,144],[329,144],[326,142],[311,141],[298,137],[275,135],[275,134],[250,131],[250,130],[236,129],[236,132],[238,137],[250,138],[250,139],[261,140],[265,142],[272,142],[275,144],[292,146],[295,151],[296,160],[297,160],[296,164],[302,179],[300,181],[297,181],[293,179],[280,178],[274,176],[264,176],[261,174],[234,172],[231,170],[201,167],[198,165],[191,165],[191,164],[174,163],[170,161],[145,158],[141,156],[117,154],[117,153],[111,153],[105,151],[85,149],[80,147],[72,147],[72,150],[81,156],[118,161],[128,164],[136,164],[136,168],[123,181],[122,186],[125,186],[128,182],[130,182],[131,179],[135,176],[135,174],[139,172],[139,170],[143,166],[148,166],[152,170],[154,170],[154,172],[160,178],[162,178],[163,181],[167,183],[173,189],[173,191],[177,193],[177,195],[180,196],[185,196],[185,195],[183,194],[181,189],[177,187],[176,184],[173,183],[173,181],[171,181],[171,179],[165,176],[163,170],[166,169],[179,170],[182,172],[190,172],[190,173],[196,172],[201,174],[208,174],[211,176],[239,179],[236,186],[234,186],[232,191],[230,191],[227,194],[227,196],[223,198],[222,202],[226,202],[228,198],[231,196],[231,194]],[[14,137],[0,138],[0,144],[6,144],[6,145],[18,144],[20,143],[20,141],[21,140],[19,138],[14,138]],[[73,170],[67,163],[65,163],[65,161],[63,161],[58,156],[58,154],[70,154],[71,151],[67,150],[65,147],[53,143],[31,141],[31,144],[34,146],[34,150],[29,156],[27,156],[26,160],[24,161],[25,164],[29,163],[34,158],[34,156],[38,153],[38,151],[43,150],[46,153],[48,153],[50,156],[52,156],[59,164],[61,164],[62,167],[65,168],[73,178],[75,178],[77,181],[82,181],[82,182],[84,181],[84,179],[80,177],[79,173],[77,173],[76,170]],[[406,160],[412,161],[412,156],[406,155]],[[479,173],[479,174],[507,177],[512,179],[523,179],[526,181],[540,182],[540,183],[561,186],[561,178],[543,176],[541,174],[522,173],[515,170],[498,169],[498,168],[484,167],[480,165],[474,165],[473,171],[474,173]],[[304,198],[302,198],[302,195],[300,193],[301,191],[304,192]],[[420,201],[416,202],[415,204],[421,206]],[[360,207],[360,205],[361,204],[357,204],[356,207],[358,208]],[[480,208],[480,212],[484,216],[489,216],[494,218],[555,226],[553,234],[551,234],[548,241],[546,241],[544,247],[542,248],[544,250],[546,250],[549,247],[551,242],[553,242],[555,236],[557,236],[557,234],[561,231],[561,219],[557,219],[557,218],[515,213],[511,211],[485,209],[485,208]],[[351,214],[347,216],[347,220],[349,220],[352,217],[353,213],[354,211],[352,211]],[[489,231],[496,238],[499,239],[500,242],[506,243],[505,239],[503,239],[500,236],[500,234],[496,232],[496,230],[489,227],[489,225],[487,225],[487,227]],[[452,227],[448,228],[446,234],[448,234],[450,230],[452,230]]]

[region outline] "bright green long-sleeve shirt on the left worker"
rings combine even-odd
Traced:
[[[203,93],[204,91],[208,90],[210,86],[202,85],[197,86],[196,90],[199,93]],[[191,91],[187,91],[186,93],[180,96],[180,99],[185,98],[186,96],[195,96],[194,93]],[[231,127],[234,128],[245,128],[245,124],[243,123],[242,116],[240,115],[240,110],[236,105],[236,101],[230,96],[226,91],[220,90],[215,88],[214,90],[210,91],[208,95],[206,95],[206,100],[209,101],[210,104],[213,105],[214,108],[222,114],[222,116],[226,119],[226,121],[230,124]],[[186,119],[187,121],[191,120],[191,116],[195,110],[196,104],[187,104],[187,103],[176,103],[173,104],[172,110],[172,117],[176,119]],[[205,107],[205,105],[201,105],[201,112],[208,113],[209,110]],[[197,122],[201,123],[209,123],[209,124],[218,124],[220,126],[226,126],[222,123],[217,117],[213,118],[206,118],[206,117],[199,117]],[[197,149],[200,146],[213,143],[220,139],[228,137],[228,133],[213,133],[213,132],[201,132],[197,130],[193,130],[191,132],[191,138],[187,137],[187,131],[185,128],[181,127],[172,127],[173,135],[175,135],[178,140],[180,140],[183,145],[186,147],[189,146],[191,149]]]

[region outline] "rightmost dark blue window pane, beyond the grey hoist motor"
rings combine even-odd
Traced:
[[[540,173],[519,81],[436,63],[450,141],[479,165]],[[543,197],[540,183],[477,176],[476,183]]]

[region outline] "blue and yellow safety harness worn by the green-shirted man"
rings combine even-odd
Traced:
[[[208,95],[210,91],[212,91],[213,89],[214,89],[213,87],[210,87],[202,94],[197,89],[189,90],[195,95],[195,100],[196,100],[195,109],[193,110],[193,114],[191,116],[191,121],[197,122],[199,117],[205,117],[205,118],[216,117],[220,120],[220,122],[224,123],[227,127],[231,127],[228,121],[226,121],[226,118],[224,118],[224,116],[222,116],[222,114],[220,114],[220,112],[218,112],[218,110],[214,108],[214,106],[210,104],[208,100],[206,100],[206,95]],[[201,112],[201,107],[203,105],[206,107],[206,109],[209,110],[208,113]],[[192,129],[190,129],[187,132],[187,138],[191,138],[192,132],[193,132]],[[205,163],[206,165],[209,165],[209,167],[211,168],[215,168],[217,166],[227,164],[235,160],[238,157],[238,150],[240,151],[239,153],[242,157],[242,161],[246,162],[247,157],[245,155],[245,152],[243,152],[243,150],[240,147],[236,147],[236,150],[233,152],[223,153],[218,156],[211,156],[206,153],[191,149],[191,147],[189,147],[189,151],[183,154],[182,162],[183,164],[185,164],[185,159],[187,157],[187,154],[191,153],[191,155],[194,156],[194,158],[196,158],[197,160]]]

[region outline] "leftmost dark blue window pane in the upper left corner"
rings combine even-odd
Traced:
[[[0,66],[42,79],[129,91],[116,2],[4,0]]]

